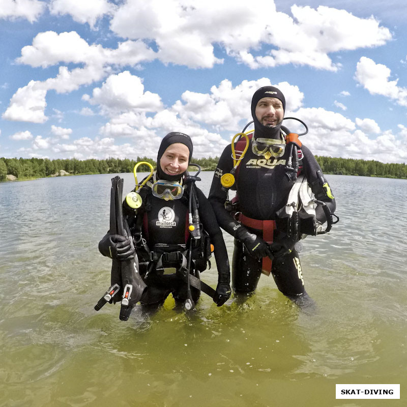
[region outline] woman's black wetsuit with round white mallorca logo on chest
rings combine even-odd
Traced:
[[[175,273],[175,269],[180,266],[179,261],[175,261],[173,265],[163,264],[168,268],[168,273],[163,274],[162,270],[157,271],[156,269],[157,260],[162,253],[183,252],[186,257],[188,256],[187,249],[190,247],[191,239],[188,231],[189,188],[187,186],[184,188],[184,196],[181,199],[166,201],[153,196],[149,187],[143,187],[139,191],[143,202],[137,211],[131,210],[124,203],[124,213],[136,241],[140,274],[148,285],[141,299],[142,304],[160,304],[170,293],[176,300],[182,302],[187,298],[186,282]],[[223,272],[228,275],[229,262],[226,246],[213,208],[200,189],[195,187],[195,191],[202,228],[209,235],[210,242],[215,248],[218,273]],[[197,245],[197,248],[192,250],[193,261],[190,273],[196,277],[199,277],[199,271],[203,271],[207,263],[206,259],[195,258],[203,239],[201,237],[199,240],[193,240],[193,244]],[[154,259],[151,259],[151,252],[155,253]],[[171,273],[170,267],[173,267],[173,273]],[[196,302],[200,291],[191,287],[191,294],[193,301]]]

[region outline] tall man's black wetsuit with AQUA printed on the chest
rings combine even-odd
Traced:
[[[321,170],[310,150],[304,145],[301,148],[302,159],[299,161],[299,173],[304,173],[311,185],[312,192],[317,199],[327,202],[333,213],[335,200],[329,198],[316,175]],[[277,211],[287,203],[287,197],[294,181],[285,175],[285,164],[288,159],[289,149],[280,158],[271,157],[266,160],[257,156],[250,146],[238,167],[236,175],[237,195],[239,199],[238,211],[243,215],[258,220],[275,220],[277,229],[274,230],[274,240],[285,234],[284,222],[277,219]],[[225,209],[227,193],[221,189],[220,178],[230,172],[233,167],[230,144],[225,148],[219,159],[218,166],[212,181],[209,200],[215,210],[219,225],[230,235],[235,237],[235,250],[232,261],[232,287],[237,292],[250,293],[256,288],[262,269],[262,259],[254,258],[248,254],[243,243],[236,239],[237,230],[241,224],[236,221],[231,213]],[[317,208],[317,219],[325,221],[321,208]],[[250,232],[263,237],[261,230],[246,227]],[[304,280],[302,277],[298,252],[292,252],[273,259],[271,273],[278,289],[287,297],[293,298],[305,294]]]

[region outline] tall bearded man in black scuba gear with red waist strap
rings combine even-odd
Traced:
[[[279,89],[264,86],[254,93],[251,103],[254,134],[248,140],[247,151],[240,158],[235,157],[236,151],[242,152],[244,141],[225,148],[209,200],[219,225],[235,237],[232,260],[235,292],[254,292],[261,272],[266,275],[271,272],[281,293],[299,305],[309,305],[312,300],[305,291],[295,245],[305,235],[319,234],[328,218],[330,229],[336,205],[310,150],[298,135],[284,137],[282,130],[288,133],[282,126],[284,111],[285,98]],[[297,137],[291,138],[293,135]],[[239,165],[237,170],[234,162]],[[231,177],[232,182],[225,188],[224,177],[234,171],[236,181]],[[233,183],[237,195],[231,205],[227,187]],[[299,195],[308,196],[308,202],[302,202]]]

